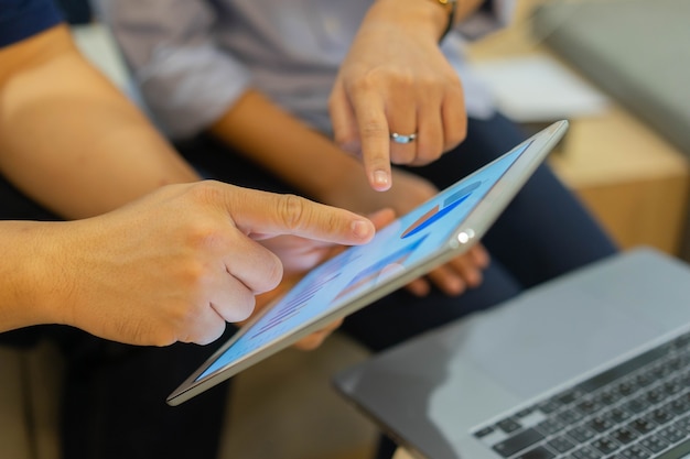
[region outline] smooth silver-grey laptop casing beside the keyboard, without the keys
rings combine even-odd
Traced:
[[[690,269],[638,249],[400,345],[335,385],[420,457],[499,458],[473,433],[689,324]]]

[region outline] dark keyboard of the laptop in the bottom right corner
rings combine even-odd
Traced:
[[[505,459],[683,457],[690,452],[690,332],[474,436]]]

